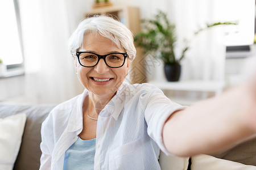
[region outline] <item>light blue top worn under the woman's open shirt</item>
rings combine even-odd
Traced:
[[[79,137],[65,152],[63,169],[93,169],[95,145],[96,138],[84,141]]]

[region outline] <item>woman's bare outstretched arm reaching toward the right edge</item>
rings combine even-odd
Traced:
[[[256,71],[250,80],[172,114],[163,128],[167,150],[178,156],[224,150],[256,133]]]

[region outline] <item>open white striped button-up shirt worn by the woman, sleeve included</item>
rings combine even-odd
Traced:
[[[82,131],[83,94],[57,105],[42,124],[40,169],[63,169],[65,151]],[[126,84],[100,112],[94,169],[160,169],[164,122],[183,109],[151,84]]]

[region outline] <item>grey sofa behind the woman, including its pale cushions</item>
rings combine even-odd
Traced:
[[[0,157],[0,169],[8,170],[34,170],[40,167],[40,151],[41,124],[47,117],[49,112],[55,105],[32,105],[32,104],[18,104],[7,101],[0,102],[0,156],[2,150],[7,147],[1,145],[5,144],[1,136],[7,133],[11,128],[3,128],[9,126],[20,126],[11,129],[10,137],[16,137],[15,141],[10,141],[10,137],[6,140],[9,145],[11,142],[16,146],[11,153],[5,156],[2,153],[3,160],[9,159],[6,168],[1,167],[3,161]],[[10,120],[8,120],[8,118]],[[26,119],[26,121],[24,121]],[[12,122],[13,121],[13,122]],[[16,122],[15,122],[16,121]],[[6,122],[6,124],[4,124]],[[2,128],[2,129],[1,129]],[[13,135],[18,131],[17,134]],[[9,133],[10,134],[10,133]],[[20,141],[19,141],[20,139]],[[1,141],[2,140],[2,141]],[[13,143],[11,143],[14,145]],[[1,150],[2,147],[2,150]],[[15,153],[14,153],[15,152]],[[159,163],[163,170],[186,170],[186,169],[256,169],[256,138],[251,139],[231,148],[225,152],[215,155],[197,155],[192,158],[179,158],[176,156],[166,156],[163,152],[160,153]]]

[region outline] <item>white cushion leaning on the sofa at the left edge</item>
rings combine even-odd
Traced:
[[[13,169],[25,123],[24,113],[0,118],[0,169]]]

